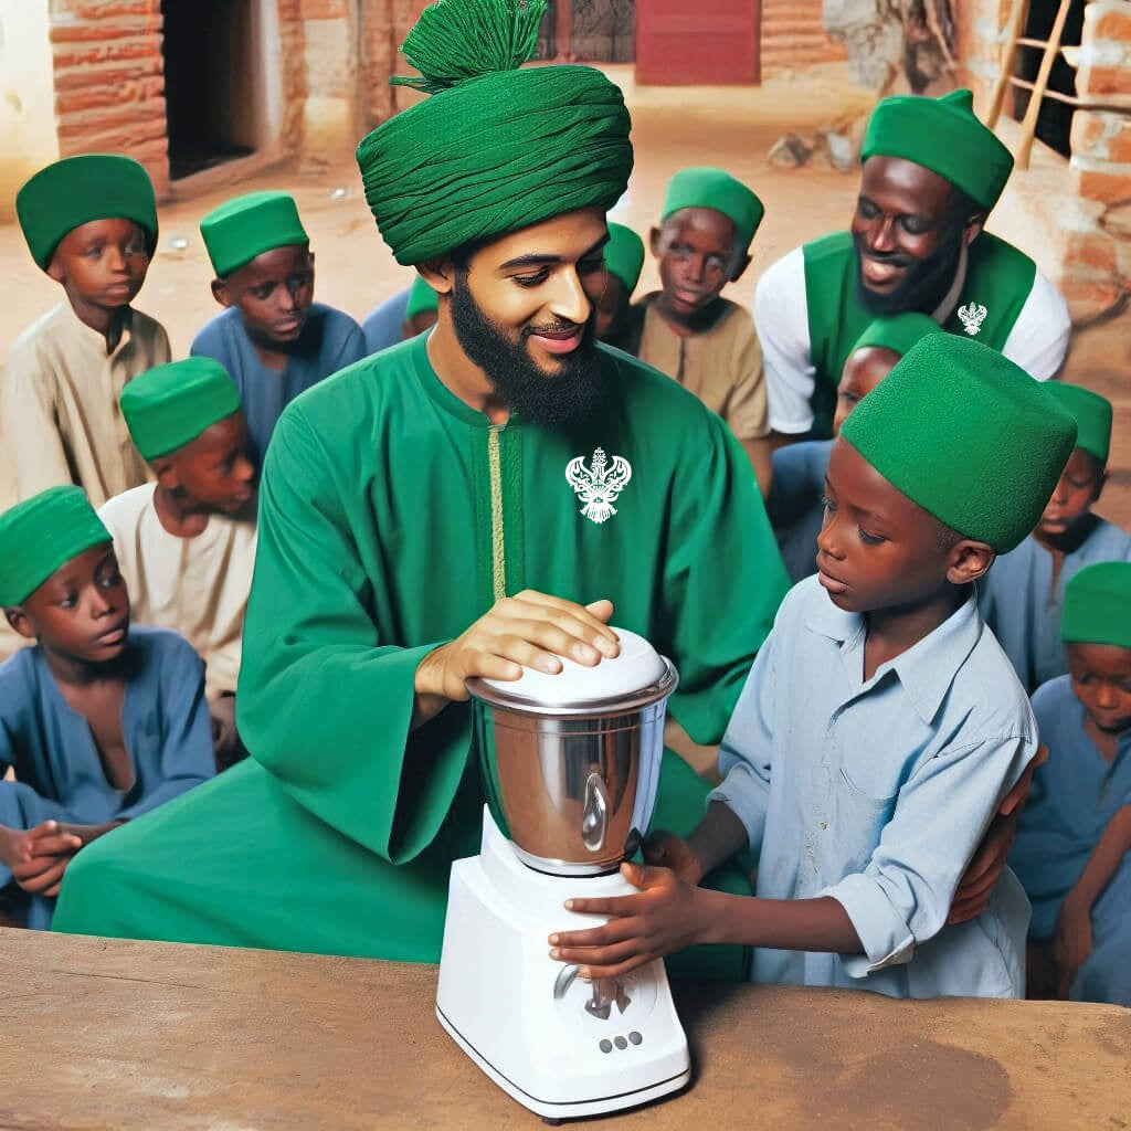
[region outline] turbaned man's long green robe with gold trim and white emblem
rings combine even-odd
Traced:
[[[601,359],[607,408],[567,431],[490,425],[423,337],[286,409],[238,696],[252,758],[85,849],[57,930],[435,960],[483,793],[469,707],[409,733],[413,679],[503,592],[611,598],[614,623],[679,667],[672,714],[718,741],[787,578],[723,422],[639,362]],[[603,523],[566,475],[598,447],[632,470]],[[667,827],[693,827],[705,794],[665,757]]]

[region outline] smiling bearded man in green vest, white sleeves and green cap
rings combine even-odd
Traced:
[[[851,228],[795,248],[758,280],[771,446],[831,435],[845,360],[875,318],[927,314],[1041,381],[1064,361],[1063,296],[984,231],[1013,158],[975,116],[969,90],[884,98],[861,158]]]

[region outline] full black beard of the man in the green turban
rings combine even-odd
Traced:
[[[519,340],[511,342],[476,304],[463,276],[457,276],[452,290],[451,321],[464,353],[486,373],[507,407],[523,420],[532,424],[572,424],[596,412],[604,387],[592,317],[580,344],[559,359],[553,374],[539,369],[527,351],[535,327],[526,327]],[[567,326],[536,329],[556,331]]]

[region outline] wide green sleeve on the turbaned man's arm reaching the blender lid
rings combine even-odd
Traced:
[[[285,413],[260,486],[240,735],[299,804],[399,864],[443,823],[470,723],[452,705],[409,736],[416,666],[443,641],[381,639],[383,579],[362,550],[374,544],[364,483],[336,472],[301,411]]]

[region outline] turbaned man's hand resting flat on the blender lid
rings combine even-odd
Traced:
[[[465,684],[472,676],[517,680],[524,667],[553,675],[562,670],[561,656],[593,667],[603,656],[615,656],[621,649],[607,624],[612,614],[608,601],[578,605],[533,589],[503,597],[463,636],[421,661],[416,694],[464,700],[468,698]],[[438,705],[432,706],[434,714]]]

